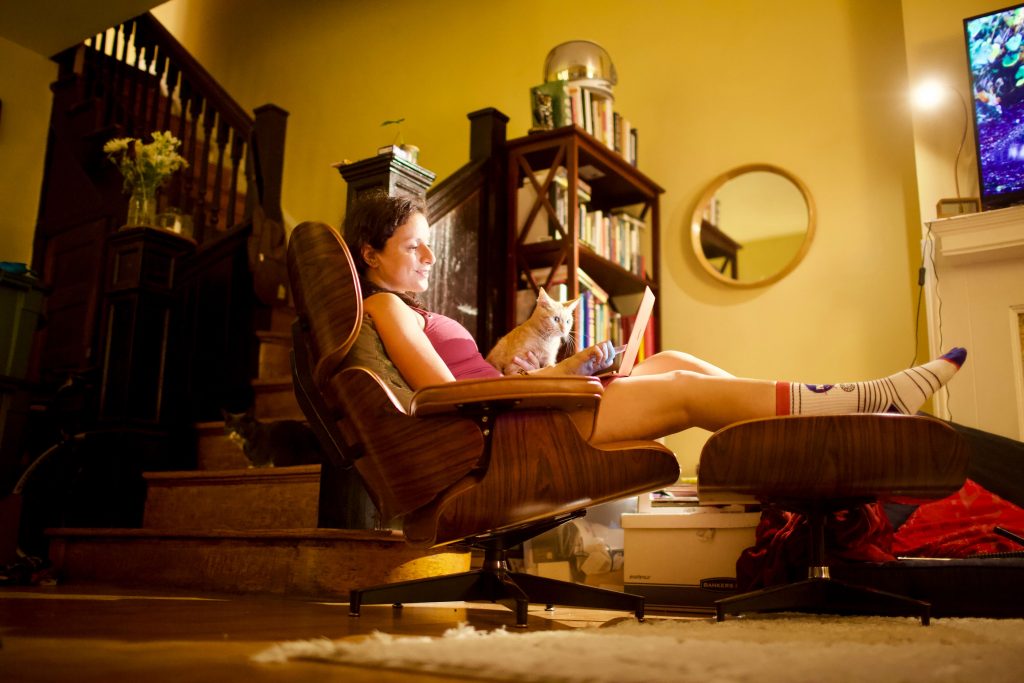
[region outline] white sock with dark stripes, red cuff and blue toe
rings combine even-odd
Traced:
[[[954,348],[922,366],[880,380],[851,384],[775,383],[775,415],[899,413],[913,415],[928,397],[952,379],[967,359]]]

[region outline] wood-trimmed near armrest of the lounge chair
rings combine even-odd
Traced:
[[[480,412],[562,411],[584,439],[594,431],[604,387],[593,377],[502,377],[424,387],[413,395],[418,418]]]

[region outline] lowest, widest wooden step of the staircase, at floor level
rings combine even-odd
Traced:
[[[354,588],[466,571],[469,552],[417,550],[374,529],[49,529],[61,584],[341,597]]]

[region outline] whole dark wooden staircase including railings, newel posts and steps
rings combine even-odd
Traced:
[[[90,479],[95,487],[86,489],[92,498],[82,508],[91,512],[90,504],[123,499],[121,507],[131,514],[56,522],[120,524],[48,529],[56,578],[68,584],[333,598],[355,587],[468,569],[468,550],[416,550],[393,529],[318,527],[321,520],[358,525],[336,509],[344,511],[352,500],[346,498],[347,472],[322,472],[319,466],[251,469],[226,439],[223,424],[212,421],[225,394],[250,388],[258,419],[303,419],[289,358],[294,312],[281,294],[287,280],[281,212],[287,112],[272,104],[253,116],[244,112],[148,14],[56,60],[54,132],[34,263],[52,292],[40,374],[47,387],[60,386],[69,373],[102,375],[95,394],[83,401],[83,414],[97,415],[104,429],[120,426],[124,434],[89,455],[109,462],[111,470],[125,470],[123,479],[138,482],[139,489],[144,478],[146,487],[140,511],[140,497],[128,496],[134,492],[112,482],[106,470]],[[432,295],[437,298],[430,304],[459,319],[467,310],[480,311],[463,322],[489,347],[499,335],[497,284],[504,282],[505,257],[487,236],[506,214],[508,119],[496,110],[468,118],[470,162],[427,198],[438,244],[447,250],[439,259],[464,263],[464,276]],[[157,353],[162,343],[143,340],[130,352],[108,353],[104,321],[117,312],[119,293],[109,288],[108,270],[114,268],[104,245],[118,239],[125,200],[101,144],[115,132],[142,137],[161,129],[182,140],[189,161],[164,199],[191,217],[195,251],[166,269],[175,273],[173,291],[156,292],[166,304],[160,311],[166,314],[158,317],[170,321],[167,350]],[[154,298],[143,286],[137,289],[138,300]],[[123,308],[152,312],[134,299],[130,303]],[[144,328],[141,323],[131,329]],[[152,368],[166,367],[169,381],[132,381],[130,364],[142,356]],[[124,386],[116,385],[119,379]],[[101,398],[112,395],[111,386],[150,392],[159,410],[145,416],[144,430],[134,415],[106,411]],[[123,403],[133,408],[130,400]],[[132,440],[142,432],[152,437],[144,449]],[[182,442],[187,446],[174,445]],[[183,468],[189,469],[166,471]],[[323,494],[322,474],[331,481]],[[121,514],[121,507],[115,512]]]

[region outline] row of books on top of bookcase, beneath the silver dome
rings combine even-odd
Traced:
[[[530,88],[530,131],[577,125],[637,165],[637,129],[613,111],[606,93],[567,81],[551,81]]]

